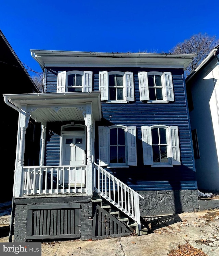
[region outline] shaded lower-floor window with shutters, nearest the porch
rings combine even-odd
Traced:
[[[137,165],[135,126],[99,126],[99,165]]]

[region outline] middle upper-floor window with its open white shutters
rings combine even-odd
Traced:
[[[132,72],[99,72],[101,100],[107,102],[134,101],[134,82]]]

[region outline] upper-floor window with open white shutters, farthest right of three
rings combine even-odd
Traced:
[[[165,103],[174,101],[172,74],[170,72],[139,72],[140,100]]]

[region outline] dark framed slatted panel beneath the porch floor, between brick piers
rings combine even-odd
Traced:
[[[79,238],[80,204],[42,204],[28,209],[26,239]]]

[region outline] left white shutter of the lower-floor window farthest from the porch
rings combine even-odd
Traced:
[[[144,165],[153,165],[152,135],[150,126],[141,126]]]

